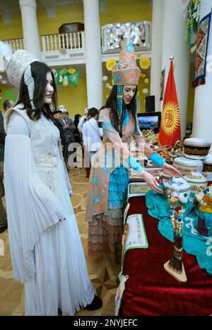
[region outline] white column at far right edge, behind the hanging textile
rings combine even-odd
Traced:
[[[200,19],[210,13],[212,0],[201,0]],[[206,83],[195,88],[192,137],[212,141],[212,24],[208,40]],[[212,153],[212,148],[211,151]]]

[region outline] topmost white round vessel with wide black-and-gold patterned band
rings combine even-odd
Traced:
[[[211,148],[211,142],[207,139],[189,138],[183,143],[184,156],[192,159],[204,159]]]

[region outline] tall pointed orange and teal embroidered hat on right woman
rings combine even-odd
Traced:
[[[119,63],[112,67],[114,85],[138,85],[141,70],[136,66],[134,44],[129,38],[124,38],[122,51],[119,55]]]

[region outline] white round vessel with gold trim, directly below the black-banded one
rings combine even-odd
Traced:
[[[189,159],[185,157],[177,157],[173,162],[173,166],[181,172],[182,175],[187,175],[189,172],[201,172],[203,163],[198,159]]]

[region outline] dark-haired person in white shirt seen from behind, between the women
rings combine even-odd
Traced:
[[[83,146],[84,146],[84,157],[86,158],[89,153],[89,167],[86,167],[86,177],[90,175],[90,159],[95,155],[102,144],[100,136],[102,136],[102,128],[98,127],[98,116],[99,112],[95,107],[89,109],[88,122],[83,124]],[[86,163],[86,160],[85,160]]]

